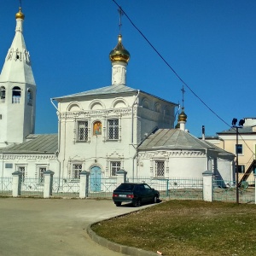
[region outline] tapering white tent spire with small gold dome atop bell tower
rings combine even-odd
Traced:
[[[15,38],[6,55],[3,70],[0,76],[0,83],[17,82],[26,84],[36,84],[32,73],[29,52],[23,38],[24,15],[16,14]]]

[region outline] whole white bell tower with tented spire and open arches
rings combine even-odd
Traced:
[[[35,128],[37,87],[23,38],[21,8],[15,17],[15,38],[0,75],[0,148],[23,143]]]

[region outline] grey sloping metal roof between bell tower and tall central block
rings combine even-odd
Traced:
[[[0,148],[1,154],[55,154],[58,149],[57,134],[31,134],[26,142]]]

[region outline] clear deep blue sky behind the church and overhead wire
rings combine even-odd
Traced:
[[[256,1],[116,0],[189,88],[225,122],[256,117]],[[19,1],[1,3],[0,66],[15,36]],[[108,54],[117,44],[112,0],[23,0],[24,37],[38,87],[37,133],[57,132],[50,98],[111,84]],[[125,17],[123,44],[131,54],[126,84],[182,102],[182,82]],[[201,136],[229,128],[189,91],[186,128]]]

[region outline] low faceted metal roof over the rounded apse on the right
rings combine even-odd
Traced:
[[[204,140],[194,137],[187,131],[179,129],[159,129],[154,134],[151,134],[143,143],[138,147],[141,150],[212,150],[218,154],[232,155],[231,153],[218,148]]]

